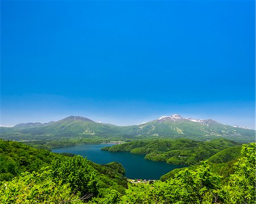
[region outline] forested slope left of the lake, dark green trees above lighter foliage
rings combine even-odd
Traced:
[[[56,201],[52,203],[60,203],[60,201],[68,201],[73,197],[79,198],[84,195],[90,195],[90,199],[108,197],[110,200],[110,195],[104,193],[108,193],[108,190],[124,192],[127,186],[126,178],[123,177],[123,174],[118,173],[118,171],[122,173],[124,171],[122,165],[118,163],[94,164],[81,156],[59,155],[14,141],[0,140],[0,147],[2,147],[0,178],[5,181],[5,183],[2,182],[0,201],[3,200],[6,203],[21,203],[21,201],[23,203],[23,200],[24,203],[35,203],[36,201],[30,198],[33,192],[42,194],[42,198],[38,198],[41,203],[47,202],[47,199],[54,201],[55,198]],[[46,166],[47,169],[42,166]],[[14,176],[16,177],[13,178]],[[11,180],[12,178],[13,180]],[[26,188],[26,182],[30,183],[29,188]],[[15,183],[17,183],[16,186]],[[5,184],[11,186],[10,189],[13,189],[14,194],[3,190]],[[42,189],[40,190],[40,188]],[[60,197],[57,197],[55,193],[59,191]],[[47,193],[49,192],[51,193],[48,197]],[[14,199],[7,202],[9,194]],[[45,200],[43,199],[44,194],[47,194]],[[62,194],[63,197],[61,197]]]

